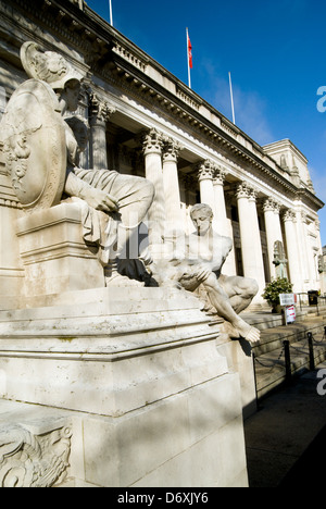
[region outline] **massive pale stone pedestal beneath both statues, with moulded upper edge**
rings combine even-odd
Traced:
[[[98,288],[1,311],[0,398],[2,443],[51,438],[37,457],[13,447],[2,485],[53,463],[54,432],[70,455],[51,485],[248,485],[239,375],[186,291]]]

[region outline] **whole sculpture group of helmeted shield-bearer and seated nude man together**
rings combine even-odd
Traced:
[[[106,286],[142,285],[122,275],[118,262],[126,258],[125,246],[151,207],[153,185],[114,170],[80,169],[88,125],[85,119],[67,114],[77,110],[82,76],[61,54],[45,52],[35,42],[22,46],[21,59],[30,79],[13,94],[1,121],[1,137],[23,208],[33,211],[62,199],[77,200],[84,239],[98,247]],[[195,206],[191,218],[197,231],[187,237],[184,253],[152,264],[153,277],[147,285],[203,289],[215,312],[230,324],[233,336],[256,342],[259,331],[239,316],[258,291],[255,281],[221,273],[231,240],[213,232],[209,206]],[[138,252],[135,258],[140,258]],[[145,280],[142,269],[138,280]]]

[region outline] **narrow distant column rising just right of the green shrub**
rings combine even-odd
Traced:
[[[302,291],[301,271],[299,262],[299,248],[296,232],[296,212],[288,209],[284,216],[284,226],[288,256],[288,272],[290,282],[293,284],[293,291]]]

